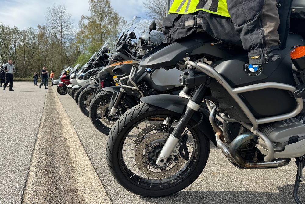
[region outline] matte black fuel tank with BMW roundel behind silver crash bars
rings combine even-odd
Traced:
[[[231,87],[243,87],[264,82],[278,82],[296,85],[292,71],[290,51],[295,45],[304,45],[300,35],[289,35],[287,47],[281,50],[282,58],[264,65],[249,65],[248,56],[229,57],[212,64]],[[211,101],[225,110],[238,121],[250,122],[237,103],[215,79],[207,85],[211,89]],[[240,94],[245,104],[256,118],[275,116],[291,112],[296,107],[296,100],[285,90],[267,88]]]

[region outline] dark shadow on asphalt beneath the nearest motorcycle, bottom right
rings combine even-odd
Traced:
[[[174,195],[161,198],[140,196],[140,199],[156,204],[164,203],[285,203],[295,204],[293,198],[294,184],[278,186],[278,193],[252,191],[180,191]],[[300,185],[299,199],[305,202],[305,184]],[[171,202],[168,202],[168,201]],[[179,202],[178,202],[179,201]]]

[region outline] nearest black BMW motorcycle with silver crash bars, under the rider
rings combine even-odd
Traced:
[[[305,3],[298,3],[305,12]],[[170,56],[196,53],[182,46],[192,40],[161,45],[145,55],[139,67],[173,66]],[[180,49],[170,52],[171,46]],[[303,37],[290,34],[280,51],[282,59],[266,65],[250,65],[246,52],[211,64],[189,59],[179,78],[188,98],[143,97],[113,125],[106,148],[113,177],[138,195],[176,193],[203,171],[212,141],[237,168],[277,168],[296,158],[294,198],[301,203],[297,192],[305,164],[304,50]],[[203,101],[209,117],[203,113]]]

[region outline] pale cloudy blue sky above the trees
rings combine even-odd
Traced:
[[[110,1],[112,7],[127,23],[135,15],[145,17],[142,3],[144,0]],[[90,14],[87,0],[0,0],[0,22],[19,29],[36,28],[38,24],[45,24],[47,8],[54,3],[66,5],[67,11],[72,14],[75,26],[78,25],[81,15]]]

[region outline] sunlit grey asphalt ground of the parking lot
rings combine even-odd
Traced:
[[[53,88],[54,90],[52,90]],[[31,176],[38,176],[36,177],[38,180],[40,176],[49,176],[48,174],[54,174],[54,172],[63,176],[63,173],[60,172],[66,172],[70,166],[74,168],[74,172],[89,169],[88,171],[91,173],[90,175],[73,173],[71,179],[67,179],[69,182],[66,184],[54,179],[52,182],[48,182],[47,189],[55,188],[57,185],[57,188],[61,186],[66,190],[73,186],[72,190],[76,189],[78,194],[84,194],[88,193],[90,189],[79,191],[78,189],[81,187],[77,185],[91,178],[95,185],[92,186],[93,190],[90,192],[94,192],[98,196],[107,196],[112,203],[295,203],[292,196],[296,176],[294,160],[289,165],[278,169],[237,169],[213,145],[206,168],[199,178],[183,191],[162,198],[147,198],[132,194],[117,184],[108,171],[105,156],[107,136],[94,128],[90,119],[81,113],[78,105],[69,95],[55,93],[56,86],[50,87],[46,93],[44,89],[34,87],[32,83],[23,82],[15,82],[14,89],[14,92],[0,89],[0,104],[9,106],[9,109],[4,108],[4,112],[2,112],[5,125],[3,123],[0,125],[0,203],[20,203],[25,202],[24,198],[39,196],[38,193],[31,193],[30,196],[27,194],[27,192],[31,192],[27,190],[31,183],[30,180],[35,178]],[[48,97],[50,102],[45,103],[45,98]],[[51,102],[51,99],[54,102]],[[49,111],[56,109],[55,107],[46,109],[46,106],[55,105],[62,107],[62,109],[56,110],[62,116],[43,117],[43,114],[48,114]],[[44,106],[46,113],[42,112]],[[65,120],[66,124],[70,124],[69,128],[64,124],[57,126],[54,123],[59,121],[56,120]],[[42,135],[56,135],[60,132],[64,138],[61,140],[63,144],[59,143],[58,139],[61,138],[52,139],[51,137],[46,140],[43,140],[43,137],[40,138],[38,133],[41,133],[40,131],[44,128],[41,126],[41,121],[48,127],[48,130],[52,129],[52,124],[56,127],[54,132],[46,132]],[[38,135],[37,139],[36,135]],[[70,144],[71,138],[73,142]],[[48,160],[42,159],[42,163],[37,160],[39,168],[34,164],[36,161],[34,158],[41,158],[43,152],[48,150],[47,148],[36,148],[40,141],[47,141],[45,145],[50,145],[57,150],[56,154],[50,154],[48,157],[54,161],[60,160],[60,162],[53,163],[53,171],[45,171],[43,174],[40,174],[40,171],[44,170],[44,165],[49,165],[48,162],[44,164],[43,161]],[[63,146],[63,149],[59,151],[55,146]],[[72,151],[74,148],[77,148],[77,151]],[[66,154],[65,151],[69,151],[70,154]],[[72,159],[60,159],[64,155]],[[74,160],[73,155],[75,157],[78,155],[80,159]],[[78,165],[75,165],[76,163]],[[35,173],[31,174],[31,171]],[[84,182],[83,184],[89,185]],[[42,188],[44,187],[44,184],[40,185]],[[100,188],[105,188],[106,194],[99,192]],[[24,189],[26,190],[24,191]],[[66,193],[69,192],[66,190]],[[305,201],[304,192],[305,185],[301,184],[299,197],[303,201]],[[60,198],[56,199],[57,195]],[[44,196],[43,203],[67,203],[64,195],[53,193],[53,191],[48,191]],[[100,203],[97,200],[89,200],[86,196],[77,196],[81,197],[77,197],[79,203]],[[52,199],[50,199],[51,197]],[[73,200],[74,198],[69,199],[72,199],[71,202],[76,201]],[[104,202],[107,202],[107,199]]]

